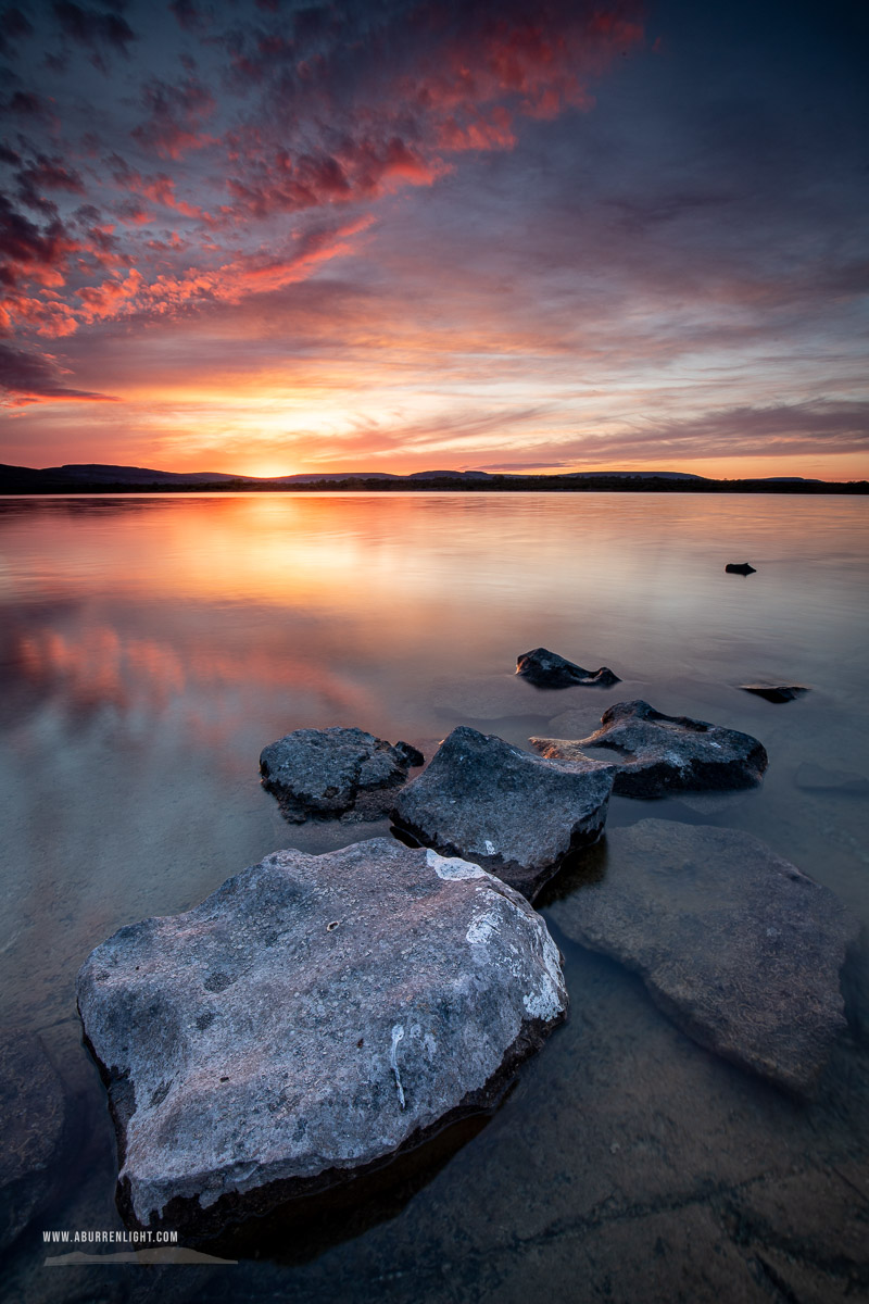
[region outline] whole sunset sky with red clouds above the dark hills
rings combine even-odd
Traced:
[[[17,0],[0,460],[869,477],[843,0]]]

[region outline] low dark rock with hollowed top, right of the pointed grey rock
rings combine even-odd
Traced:
[[[664,716],[648,702],[618,702],[603,712],[601,726],[588,738],[532,738],[530,743],[548,759],[584,768],[606,756],[615,768],[612,792],[621,797],[752,788],[769,764],[762,743],[750,734],[688,716]]]

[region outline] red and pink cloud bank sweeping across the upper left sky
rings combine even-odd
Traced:
[[[202,30],[205,9],[201,20],[194,0],[177,0],[173,9],[188,33]],[[0,329],[17,319],[42,335],[65,335],[81,323],[190,312],[289,284],[349,248],[370,219],[356,213],[343,230],[324,227],[322,239],[291,245],[283,236],[284,254],[251,252],[254,241],[275,240],[274,230],[251,231],[251,219],[370,205],[405,185],[434,184],[455,166],[451,155],[509,150],[521,117],[588,104],[590,77],[641,38],[628,9],[598,13],[581,0],[539,0],[530,13],[526,0],[500,0],[495,12],[430,0],[401,8],[400,21],[390,5],[363,17],[340,5],[294,14],[270,3],[259,9],[262,20],[251,23],[248,13],[246,29],[240,10],[241,26],[223,35],[216,10],[208,10],[203,39],[210,56],[223,48],[228,57],[221,107],[232,107],[232,130],[221,138],[206,130],[216,100],[185,51],[186,78],[152,77],[141,89],[146,116],[132,133],[151,159],[169,164],[133,167],[112,154],[95,179],[89,163],[99,207],[87,205],[93,215],[78,219],[76,237],[47,196],[83,193],[79,173],[60,156],[22,162],[9,153],[18,194],[42,224],[0,206],[0,282],[12,292]],[[133,39],[69,0],[56,0],[53,12],[91,48],[102,42],[122,50]],[[236,106],[233,87],[242,95]],[[223,170],[210,168],[203,181],[172,166],[205,145],[220,145]],[[193,186],[205,186],[207,206],[202,190],[185,193]],[[100,209],[125,224],[120,236]],[[165,231],[137,233],[169,215],[180,228],[171,239]],[[198,265],[182,267],[181,250],[193,248]]]

